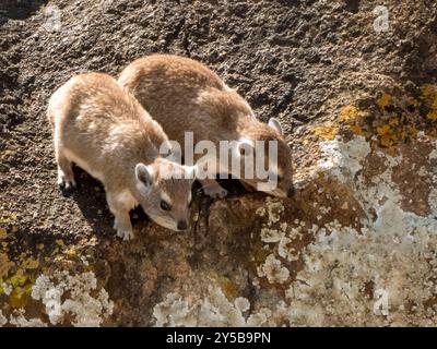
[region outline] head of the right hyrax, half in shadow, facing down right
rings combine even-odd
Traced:
[[[234,155],[240,163],[241,181],[274,196],[294,195],[292,149],[277,120],[249,127],[237,142]]]

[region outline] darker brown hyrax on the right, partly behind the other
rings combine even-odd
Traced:
[[[241,172],[234,173],[229,167],[225,171],[252,188],[270,178],[277,179],[277,185],[263,191],[281,197],[293,195],[292,152],[279,121],[270,119],[265,124],[257,120],[246,100],[205,65],[188,58],[152,55],[128,65],[118,83],[130,91],[160,122],[168,137],[182,147],[186,131],[193,133],[194,144],[209,140],[215,143],[217,149],[220,141],[234,141],[245,146],[245,151],[237,154],[243,161],[248,154],[247,145],[255,153],[256,141],[264,141],[265,147],[269,141],[275,142],[277,160],[269,167],[267,179],[250,179]],[[264,154],[268,154],[267,151]],[[269,159],[264,160],[269,164]],[[206,179],[202,184],[211,196],[226,195],[226,191],[214,180]]]

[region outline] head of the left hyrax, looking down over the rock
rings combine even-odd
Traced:
[[[135,166],[137,200],[156,224],[186,230],[190,226],[191,185],[196,168],[157,158]]]

